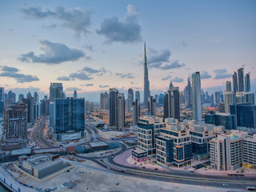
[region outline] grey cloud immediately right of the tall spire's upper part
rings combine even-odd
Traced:
[[[154,50],[149,47],[147,49],[147,55],[147,62],[150,68],[157,68],[159,70],[170,70],[185,66],[184,63],[180,64],[178,60],[170,61],[171,52],[168,49]]]

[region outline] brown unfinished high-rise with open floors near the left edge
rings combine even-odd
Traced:
[[[5,138],[27,138],[26,105],[22,102],[18,106],[7,106],[5,121]]]

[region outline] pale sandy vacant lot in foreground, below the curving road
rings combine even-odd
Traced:
[[[132,178],[122,174],[115,174],[114,172],[104,169],[98,164],[90,161],[86,162],[71,162],[74,169],[69,173],[59,174],[46,182],[36,182],[33,179],[22,175],[18,177],[20,181],[26,182],[32,186],[37,186],[42,190],[47,188],[54,189],[54,191],[226,191],[227,189],[206,187],[206,186],[190,186],[171,182],[158,182],[143,178]],[[15,173],[13,173],[15,174]],[[18,174],[16,174],[18,176]],[[64,182],[75,183],[74,188],[67,189],[63,186]],[[118,185],[117,185],[118,184]]]

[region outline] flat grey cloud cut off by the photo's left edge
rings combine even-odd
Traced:
[[[34,82],[39,81],[39,78],[36,76],[32,76],[30,74],[18,74],[19,70],[10,66],[2,66],[2,73],[0,73],[0,77],[6,78],[14,78],[17,82]]]

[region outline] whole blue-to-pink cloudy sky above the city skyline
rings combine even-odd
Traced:
[[[183,90],[201,73],[202,89],[224,90],[244,65],[256,90],[256,1],[7,1],[0,2],[0,86],[16,94],[99,101],[116,87],[143,98],[143,46],[151,94],[173,82]]]

